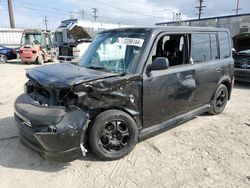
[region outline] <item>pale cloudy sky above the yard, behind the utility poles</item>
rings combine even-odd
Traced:
[[[230,15],[237,0],[204,0],[202,17]],[[93,21],[92,8],[97,8],[97,21],[128,25],[154,25],[172,21],[173,13],[181,13],[182,20],[197,18],[198,0],[13,0],[18,28],[44,28],[48,17],[49,29],[60,21],[74,18]],[[239,13],[250,13],[250,0],[240,0]],[[0,0],[0,27],[9,27],[7,0]]]

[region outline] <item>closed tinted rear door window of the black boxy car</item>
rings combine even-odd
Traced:
[[[211,59],[209,34],[193,34],[192,58],[194,62],[204,62]]]

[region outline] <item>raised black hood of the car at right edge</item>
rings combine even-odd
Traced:
[[[250,33],[243,33],[234,36],[233,43],[237,52],[250,49]]]

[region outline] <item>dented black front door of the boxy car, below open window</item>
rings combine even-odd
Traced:
[[[157,48],[156,46],[159,45],[156,42],[154,46]],[[186,49],[185,58],[188,60],[187,40],[184,48]],[[154,52],[149,56],[148,65],[152,63],[153,54]],[[195,89],[195,68],[190,63],[170,66],[165,70],[150,72],[146,70],[143,75],[144,128],[189,111],[192,106],[189,103],[193,101]]]

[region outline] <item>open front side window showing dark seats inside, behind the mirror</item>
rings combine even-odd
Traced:
[[[154,46],[152,60],[157,57],[165,57],[169,66],[177,66],[187,63],[187,34],[164,35]]]

